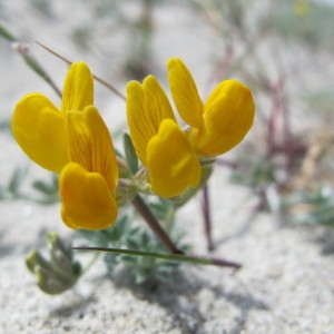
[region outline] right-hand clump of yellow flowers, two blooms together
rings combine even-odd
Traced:
[[[220,82],[203,104],[184,62],[169,59],[168,81],[179,116],[176,121],[155,77],[127,86],[127,117],[136,153],[149,173],[154,193],[174,197],[198,187],[200,157],[216,157],[236,146],[249,130],[255,105],[250,90],[236,80]]]

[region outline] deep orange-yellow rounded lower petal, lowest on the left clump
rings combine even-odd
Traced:
[[[61,217],[69,227],[104,229],[115,223],[117,204],[100,174],[70,163],[61,171],[59,190]]]

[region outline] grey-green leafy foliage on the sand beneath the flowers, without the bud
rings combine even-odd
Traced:
[[[158,215],[170,213],[169,204],[167,205],[167,202],[165,204],[164,202],[158,205],[154,204],[150,208],[154,207],[153,212],[158,213]],[[181,243],[184,234],[174,224],[168,224],[166,230],[181,250],[188,249],[188,246]],[[146,226],[136,224],[134,214],[129,210],[120,214],[117,222],[108,229],[82,229],[80,234],[90,242],[90,246],[95,247],[117,247],[140,252],[166,253],[166,248]],[[136,284],[144,283],[150,278],[166,281],[174,271],[179,268],[179,263],[177,262],[116,253],[106,253],[104,262],[110,273],[117,266],[122,265],[127,267]]]

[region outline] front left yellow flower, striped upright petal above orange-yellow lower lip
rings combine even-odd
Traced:
[[[107,228],[118,214],[117,159],[108,128],[89,106],[68,111],[67,130],[70,163],[59,178],[62,220],[71,228]]]

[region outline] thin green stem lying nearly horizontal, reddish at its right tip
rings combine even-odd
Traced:
[[[131,250],[131,249],[121,249],[121,248],[106,248],[106,247],[72,247],[75,250],[95,250],[95,252],[108,252],[108,253],[117,253],[125,254],[131,256],[145,256],[145,257],[154,257],[161,258],[166,261],[176,261],[176,262],[186,262],[199,265],[215,265],[219,267],[232,267],[235,271],[242,267],[240,264],[235,262],[229,262],[216,257],[205,257],[197,255],[184,255],[184,254],[168,254],[168,253],[150,253],[143,250]]]

